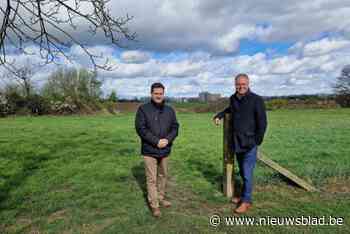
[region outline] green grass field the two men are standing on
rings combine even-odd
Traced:
[[[209,225],[232,216],[220,191],[222,127],[178,114],[173,207],[146,206],[134,115],[0,119],[0,233],[349,233],[350,109],[269,112],[262,151],[312,182],[309,193],[261,163],[250,217],[343,217],[340,226]],[[236,169],[236,173],[238,173]]]

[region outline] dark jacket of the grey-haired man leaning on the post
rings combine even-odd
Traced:
[[[225,113],[232,114],[234,152],[246,152],[263,142],[267,118],[262,97],[249,90],[239,99],[235,93],[230,97],[230,106],[214,118],[221,119]]]

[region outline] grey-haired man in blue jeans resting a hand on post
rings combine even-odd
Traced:
[[[229,107],[215,115],[214,122],[219,125],[225,113],[232,114],[233,150],[243,180],[241,196],[234,197],[232,202],[238,204],[236,213],[245,213],[252,206],[257,148],[263,142],[267,120],[264,100],[250,91],[248,75],[238,74],[235,86],[236,92],[230,97]]]

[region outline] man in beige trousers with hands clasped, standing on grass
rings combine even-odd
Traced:
[[[155,217],[161,215],[159,205],[171,206],[165,200],[168,156],[179,129],[175,111],[164,104],[164,89],[161,83],[152,84],[151,101],[139,107],[135,118],[145,164],[147,199]]]

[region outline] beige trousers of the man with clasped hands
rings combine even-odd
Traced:
[[[150,207],[158,208],[159,201],[164,199],[168,175],[168,157],[154,158],[143,156],[147,184],[147,199]]]

